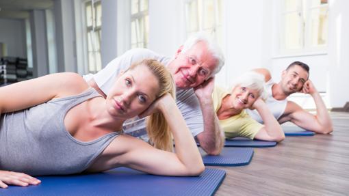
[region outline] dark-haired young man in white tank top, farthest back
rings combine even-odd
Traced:
[[[330,115],[326,109],[318,90],[309,80],[309,66],[300,61],[294,61],[283,70],[281,81],[274,83],[270,72],[265,68],[255,69],[255,72],[263,74],[266,80],[268,98],[266,103],[274,117],[283,124],[293,122],[301,128],[313,132],[328,134],[333,131]],[[313,115],[287,97],[296,92],[310,94],[316,105],[316,115]],[[248,110],[248,114],[258,122],[263,120],[255,110]]]

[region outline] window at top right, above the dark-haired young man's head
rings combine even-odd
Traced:
[[[284,0],[281,53],[324,51],[328,33],[327,0]]]

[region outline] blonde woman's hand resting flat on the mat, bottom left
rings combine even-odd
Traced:
[[[25,173],[0,170],[0,187],[8,188],[8,184],[16,186],[38,185],[41,181]]]

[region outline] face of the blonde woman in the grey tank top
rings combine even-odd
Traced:
[[[145,111],[159,92],[159,82],[144,65],[120,74],[107,95],[107,111],[116,118],[129,119]]]

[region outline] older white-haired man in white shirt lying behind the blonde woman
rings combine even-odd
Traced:
[[[224,133],[213,111],[211,79],[224,65],[222,51],[205,33],[196,33],[180,46],[174,57],[164,57],[144,48],[135,48],[117,57],[96,74],[84,76],[90,86],[105,96],[114,77],[133,62],[144,58],[157,59],[172,74],[177,87],[177,106],[192,136],[196,137],[207,154],[220,154],[224,145]],[[133,137],[148,141],[144,119],[128,120],[124,131]]]

